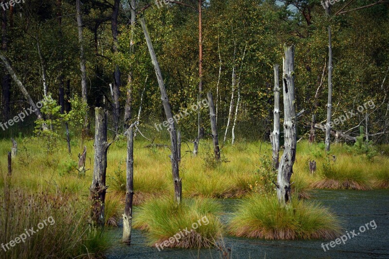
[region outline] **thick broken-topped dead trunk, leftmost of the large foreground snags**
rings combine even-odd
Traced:
[[[95,108],[96,126],[94,138],[94,164],[93,179],[90,186],[92,199],[92,224],[103,227],[105,224],[104,210],[106,200],[106,153],[109,144],[107,143],[107,114],[101,107]]]

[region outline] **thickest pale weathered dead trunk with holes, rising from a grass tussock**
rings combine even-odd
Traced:
[[[278,201],[285,205],[291,200],[290,177],[293,173],[293,164],[296,158],[296,133],[297,123],[295,108],[295,82],[294,82],[294,46],[284,46],[285,57],[283,59],[283,132],[285,148],[281,157],[277,176]]]

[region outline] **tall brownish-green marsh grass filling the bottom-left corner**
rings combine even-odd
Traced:
[[[3,190],[1,190],[3,191]],[[103,252],[112,241],[106,234],[91,233],[88,215],[81,201],[45,192],[28,194],[12,189],[0,198],[4,209],[0,215],[0,243],[15,240],[26,229],[43,223],[52,217],[53,224],[47,224],[17,243],[6,252],[1,249],[1,258],[73,258],[80,255],[102,258]]]

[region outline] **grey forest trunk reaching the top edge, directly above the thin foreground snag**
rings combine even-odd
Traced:
[[[130,0],[130,8],[131,8],[131,38],[130,38],[130,51],[134,52],[134,28],[135,28],[135,18],[136,18],[136,1]],[[130,71],[128,73],[128,81],[126,86],[126,99],[125,99],[125,107],[124,107],[124,129],[127,129],[129,126],[129,122],[131,120],[131,98],[132,98],[132,82],[133,82],[133,72]]]

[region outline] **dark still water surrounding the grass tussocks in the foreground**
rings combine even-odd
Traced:
[[[374,220],[377,227],[360,233],[324,252],[321,243],[329,241],[265,241],[225,237],[227,247],[232,248],[232,258],[389,258],[389,190],[317,190],[315,200],[331,207],[344,221],[345,232],[350,233]],[[222,200],[226,212],[230,212],[237,200]],[[134,216],[136,214],[134,213]],[[225,217],[222,216],[222,221]],[[374,223],[371,223],[374,225]],[[362,229],[363,230],[363,229]],[[122,228],[113,230],[120,239]],[[350,234],[352,236],[352,234]],[[133,230],[131,246],[118,245],[106,253],[108,259],[122,258],[220,258],[216,249],[164,249],[147,247],[145,233]],[[120,243],[120,242],[118,242]]]

